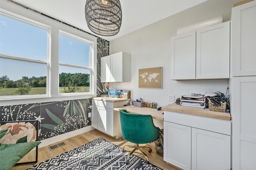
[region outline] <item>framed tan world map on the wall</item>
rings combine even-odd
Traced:
[[[139,69],[139,88],[162,88],[162,67]]]

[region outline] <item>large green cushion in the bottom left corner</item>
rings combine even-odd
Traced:
[[[40,143],[40,141],[34,141],[9,145],[0,144],[0,169],[10,170],[21,158]]]

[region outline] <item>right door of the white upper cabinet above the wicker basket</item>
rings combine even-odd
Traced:
[[[196,79],[229,78],[230,21],[196,31]]]

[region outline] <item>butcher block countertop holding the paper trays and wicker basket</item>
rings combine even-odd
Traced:
[[[172,111],[177,113],[185,113],[189,115],[210,117],[222,120],[231,120],[230,113],[210,111],[209,109],[203,109],[199,107],[180,106],[179,104],[173,103],[168,106],[162,107],[163,111]]]

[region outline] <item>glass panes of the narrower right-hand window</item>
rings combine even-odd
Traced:
[[[59,35],[59,93],[90,92],[90,43]]]

